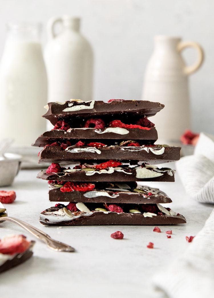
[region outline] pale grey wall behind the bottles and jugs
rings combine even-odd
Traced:
[[[205,61],[190,77],[192,128],[214,134],[214,1],[0,0],[0,7],[0,55],[7,21],[40,21],[45,26],[52,16],[80,16],[81,31],[94,49],[95,100],[141,98],[154,35],[198,41]],[[45,45],[45,30],[42,42]],[[185,50],[184,57],[193,62],[194,50]]]

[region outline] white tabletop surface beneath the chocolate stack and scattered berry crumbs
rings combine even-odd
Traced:
[[[5,204],[8,215],[70,244],[76,252],[54,252],[18,225],[0,224],[0,238],[15,233],[36,240],[30,260],[0,274],[1,298],[157,297],[152,291],[153,274],[191,245],[185,237],[196,235],[213,209],[211,204],[191,200],[176,175],[174,183],[146,184],[166,192],[173,203],[164,206],[184,215],[187,224],[159,226],[162,233],[153,232],[154,226],[44,226],[39,214],[54,203],[48,201],[47,182],[36,179],[38,171],[21,170],[11,187],[2,188],[17,195],[13,204]],[[168,239],[165,231],[171,229]],[[123,240],[110,237],[117,230],[124,234]],[[146,247],[149,242],[154,249]]]

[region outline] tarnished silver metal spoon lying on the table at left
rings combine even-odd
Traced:
[[[75,249],[65,243],[53,240],[49,235],[46,233],[40,231],[39,229],[31,226],[30,224],[25,223],[24,221],[21,221],[20,219],[8,217],[7,216],[7,210],[4,208],[4,206],[0,203],[0,218],[4,218],[4,220],[1,220],[0,223],[3,223],[4,221],[12,221],[19,226],[21,226],[23,229],[26,229],[28,232],[30,232],[32,235],[34,235],[36,238],[42,240],[47,244],[47,246],[50,249],[53,249],[57,252],[74,252]]]

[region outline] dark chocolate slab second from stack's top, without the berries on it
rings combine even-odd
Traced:
[[[110,132],[108,131],[110,130]],[[144,140],[145,144],[154,144],[158,139],[157,131],[155,127],[150,130],[139,128],[120,128],[112,127],[103,130],[97,130],[95,128],[70,128],[70,132],[54,129],[46,131],[39,136],[32,146],[44,147],[47,144],[52,144],[55,141],[65,141],[69,139],[111,139],[112,142],[116,140]],[[114,132],[113,132],[114,131]]]

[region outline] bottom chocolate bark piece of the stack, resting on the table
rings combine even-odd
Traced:
[[[40,214],[48,225],[160,225],[184,224],[186,219],[160,204],[56,204]]]

